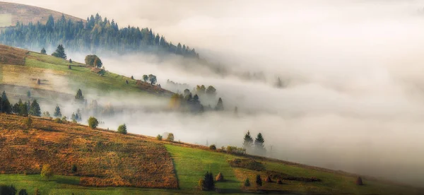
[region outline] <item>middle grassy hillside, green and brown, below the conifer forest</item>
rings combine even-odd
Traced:
[[[102,71],[100,75],[98,70],[85,64],[75,61],[69,63],[61,58],[6,45],[0,45],[0,69],[1,90],[4,90],[6,85],[16,85],[67,94],[75,93],[78,88],[86,88],[95,90],[100,95],[112,92],[164,97],[172,95],[172,92],[158,86],[110,71]],[[40,84],[37,83],[38,79]]]

